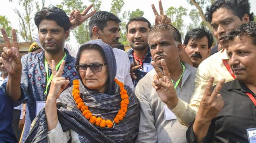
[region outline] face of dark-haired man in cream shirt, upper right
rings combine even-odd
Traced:
[[[213,19],[210,24],[213,26],[214,36],[217,38],[221,46],[225,48],[227,45],[222,42],[227,32],[246,22],[249,22],[248,15],[245,15],[241,21],[238,16],[232,13],[232,10],[221,7],[213,13]]]

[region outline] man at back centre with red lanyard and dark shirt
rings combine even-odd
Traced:
[[[150,22],[144,17],[135,17],[126,24],[126,38],[132,47],[128,52],[131,63],[131,77],[134,86],[151,69],[152,61],[150,48],[148,46],[148,32],[151,27]]]

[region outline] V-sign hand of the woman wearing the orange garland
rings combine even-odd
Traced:
[[[55,69],[55,62],[52,60],[52,82],[50,86],[50,90],[48,93],[47,99],[57,99],[59,98],[61,92],[66,88],[69,84],[69,80],[66,80],[65,77],[62,77],[63,69],[65,66],[65,61],[61,62],[59,70]]]

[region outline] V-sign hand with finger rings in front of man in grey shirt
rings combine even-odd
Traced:
[[[151,61],[151,65],[156,71],[152,86],[156,89],[156,92],[161,100],[167,104],[170,109],[173,109],[178,104],[178,97],[174,89],[174,84],[171,82],[170,72],[165,60],[161,59],[163,73],[154,61]]]

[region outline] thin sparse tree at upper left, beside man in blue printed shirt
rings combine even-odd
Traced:
[[[22,8],[14,9],[14,12],[19,17],[20,30],[18,33],[26,42],[32,41],[32,31],[35,29],[33,0],[19,0],[19,5]]]

